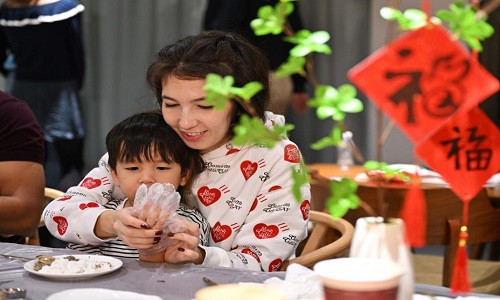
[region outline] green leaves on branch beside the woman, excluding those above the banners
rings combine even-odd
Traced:
[[[277,76],[288,76],[300,74],[309,79],[315,86],[315,97],[310,99],[308,105],[316,108],[317,116],[320,119],[331,118],[336,122],[329,137],[325,137],[313,144],[314,149],[323,149],[329,146],[336,146],[342,143],[342,132],[344,131],[344,119],[346,114],[360,112],[363,110],[363,103],[356,98],[356,89],[353,85],[345,84],[338,89],[320,85],[316,82],[314,71],[312,70],[311,54],[321,53],[329,55],[332,50],[326,43],[330,40],[330,34],[326,31],[310,32],[300,30],[296,33],[287,24],[286,17],[293,11],[294,5],[290,0],[281,0],[275,6],[266,5],[259,9],[257,19],[251,22],[251,27],[256,35],[280,34],[284,32],[286,41],[295,44],[290,50],[290,56],[284,64],[277,70]],[[210,79],[210,80],[209,80]],[[222,106],[221,99],[237,99],[236,89],[232,87],[234,80],[229,78],[217,78],[214,74],[207,77],[206,91],[207,102],[213,101],[217,107]],[[244,87],[245,90],[247,87]],[[250,88],[248,88],[250,89]],[[257,91],[258,92],[258,91]],[[248,110],[250,111],[251,110]],[[235,143],[258,143],[273,146],[284,131],[289,131],[292,127],[287,124],[285,127],[274,126],[269,130],[262,125],[260,119],[255,115],[250,118],[242,116],[240,123],[235,127]],[[292,192],[297,200],[300,197],[300,186],[308,182],[308,175],[305,166],[293,174],[294,185]],[[356,195],[357,184],[349,180],[342,180],[335,183],[336,192],[327,201],[331,212],[336,216],[342,216],[348,209],[357,207],[359,198]],[[338,190],[345,191],[339,193]],[[338,206],[338,207],[337,207]]]

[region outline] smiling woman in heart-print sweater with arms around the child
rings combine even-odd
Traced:
[[[160,50],[148,70],[148,82],[165,121],[190,148],[202,154],[205,171],[196,178],[185,200],[198,207],[212,227],[208,247],[199,245],[196,234],[169,237],[177,243],[167,249],[165,261],[275,271],[307,235],[310,187],[302,187],[301,201],[291,193],[292,168],[299,169],[300,152],[289,140],[272,149],[233,145],[232,127],[245,111],[235,101],[227,101],[223,110],[205,102],[203,86],[209,73],[231,75],[235,86],[264,83],[264,90],[252,98],[253,107],[269,126],[284,122],[283,117],[265,112],[269,102],[267,60],[242,37],[206,31]],[[105,180],[105,188],[96,186],[96,180]],[[56,216],[82,218],[74,220],[75,224],[83,220],[85,215],[75,212],[89,198],[103,203],[105,197],[122,196],[105,161],[69,192],[74,195],[71,199],[53,201],[45,211],[51,232],[57,230]],[[90,243],[120,237],[131,247],[146,249],[154,242],[154,230],[141,228],[144,221],[131,210],[110,211],[100,205],[86,217],[95,226],[81,226],[79,234]],[[70,238],[78,239],[76,235]]]

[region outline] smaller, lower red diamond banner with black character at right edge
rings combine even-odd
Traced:
[[[479,108],[455,114],[415,153],[464,201],[500,170],[500,130]]]

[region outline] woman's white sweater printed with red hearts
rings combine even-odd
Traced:
[[[289,140],[272,149],[227,143],[203,159],[206,169],[185,199],[211,226],[209,246],[202,246],[203,265],[276,271],[307,236],[310,186],[302,186],[300,201],[292,195],[292,168],[299,170],[301,163],[298,147]],[[52,201],[45,209],[49,231],[69,242],[103,243],[93,228],[104,207],[89,203],[123,197],[109,176],[106,160],[68,193],[79,196]],[[68,205],[69,201],[73,203]]]

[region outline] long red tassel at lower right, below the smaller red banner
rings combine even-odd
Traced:
[[[451,279],[451,292],[454,294],[470,293],[471,291],[467,260],[467,237],[467,226],[462,226]]]

